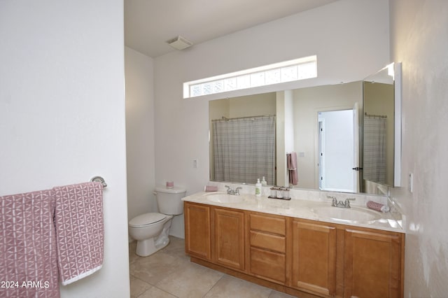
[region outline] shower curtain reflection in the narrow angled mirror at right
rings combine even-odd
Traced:
[[[386,117],[364,117],[363,178],[386,184]]]

